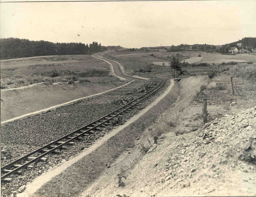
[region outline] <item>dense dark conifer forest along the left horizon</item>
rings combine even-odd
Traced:
[[[103,51],[101,43],[52,43],[44,40],[31,41],[19,38],[0,39],[0,58],[23,58],[41,55],[77,55]]]

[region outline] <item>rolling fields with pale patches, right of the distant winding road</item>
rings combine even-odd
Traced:
[[[212,69],[218,69],[218,65],[222,62],[228,63],[235,61],[237,65],[220,65],[220,70],[226,67],[255,67],[255,64],[246,64],[246,61],[256,62],[255,55],[238,54],[238,55],[221,55],[220,53],[206,53],[202,51],[185,51],[185,52],[167,52],[164,49],[159,49],[155,52],[144,51],[131,51],[127,50],[108,51],[102,53],[106,58],[116,60],[120,62],[128,71],[130,75],[139,75],[139,62],[140,62],[140,76],[142,77],[171,77],[170,60],[172,56],[176,56],[181,62],[184,60],[190,64],[195,63],[207,63],[207,66],[188,66],[183,67],[186,70],[186,75],[201,75],[207,74]],[[201,56],[201,57],[198,57]],[[255,57],[254,57],[255,56]],[[214,62],[213,62],[214,61]],[[164,63],[164,65],[163,65]],[[213,65],[214,63],[214,65]],[[183,76],[182,76],[183,77]]]

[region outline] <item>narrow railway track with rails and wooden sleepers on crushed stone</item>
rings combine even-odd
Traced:
[[[122,114],[124,112],[130,112],[136,106],[142,104],[142,102],[145,102],[146,99],[154,96],[163,88],[165,82],[166,82],[166,79],[162,79],[161,82],[151,91],[148,91],[147,93],[136,98],[130,103],[127,103],[121,108],[3,166],[1,168],[1,181],[3,182],[11,181],[11,178],[8,178],[8,177],[10,177],[13,174],[23,175],[24,174],[23,169],[25,168],[33,169],[34,162],[38,160],[47,161],[47,158],[45,158],[45,156],[48,154],[51,154],[51,153],[61,154],[61,151],[59,151],[60,149],[67,149],[67,145],[74,145],[73,141],[75,140],[83,140],[84,136],[88,136],[90,133],[93,133],[94,130],[99,130],[104,126],[107,126],[109,121],[117,117],[122,117]]]

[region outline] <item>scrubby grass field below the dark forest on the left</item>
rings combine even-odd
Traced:
[[[115,81],[109,65],[89,55],[55,55],[1,61],[1,89],[38,82]]]

